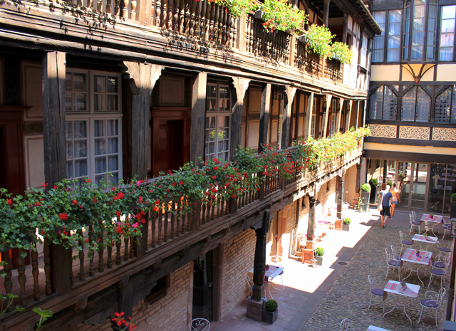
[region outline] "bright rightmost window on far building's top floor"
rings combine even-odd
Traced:
[[[439,60],[452,61],[455,45],[456,6],[442,6]]]

